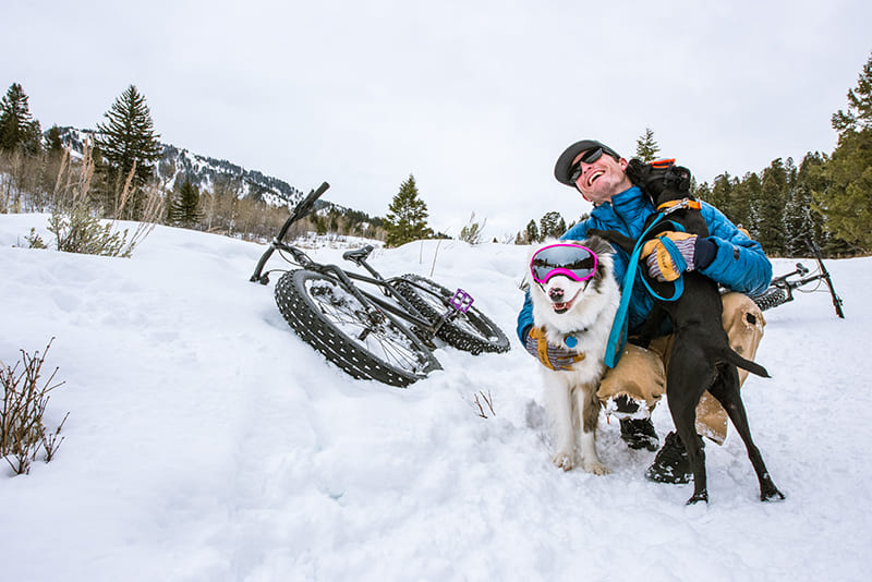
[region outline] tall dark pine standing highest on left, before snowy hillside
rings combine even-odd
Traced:
[[[152,113],[145,97],[134,85],[121,94],[104,116],[106,123],[97,124],[97,149],[105,178],[105,203],[114,213],[113,198],[133,171],[133,204],[128,204],[129,218],[138,218],[142,208],[140,192],[152,179],[155,162],[160,159],[162,148],[155,134]]]

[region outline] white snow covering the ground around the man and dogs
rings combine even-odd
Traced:
[[[132,258],[13,246],[31,227],[48,241],[46,221],[0,215],[0,360],[56,337],[47,424],[70,416],[50,463],[0,466],[3,580],[869,579],[872,258],[827,262],[846,319],[826,293],[766,312],[773,378],[743,395],[787,499],[758,499],[730,427],[706,446],[710,504],[686,507],[692,484],[645,481],[654,453],[604,415],[611,474],[550,463],[538,364],[514,338],[525,247],[373,253],[383,274],[462,287],[511,336],[505,354],[440,348],[445,369],[400,389],[296,338],[271,284],[249,282],[263,245],[158,227]],[[653,420],[663,439],[665,405]]]

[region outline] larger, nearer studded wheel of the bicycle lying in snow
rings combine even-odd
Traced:
[[[408,386],[441,369],[411,331],[368,311],[336,279],[288,271],[276,282],[276,303],[303,341],[355,378]]]

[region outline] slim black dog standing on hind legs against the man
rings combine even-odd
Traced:
[[[699,209],[695,209],[699,206],[692,205],[695,206],[692,208],[687,204],[680,204],[680,201],[693,199],[689,192],[690,171],[687,168],[674,166],[671,162],[649,165],[633,159],[627,168],[627,174],[651,196],[655,207],[661,208],[664,203],[679,201],[678,205],[670,207],[668,220],[663,220],[662,225],[657,223],[651,229],[650,238],[667,230],[679,230],[673,222],[681,225],[688,233],[708,235],[705,220]],[[653,215],[645,227],[657,219],[658,215]],[[603,237],[630,254],[635,245],[635,241],[616,231],[590,229],[588,234]],[[643,267],[642,269],[657,294],[661,296],[671,294],[673,283],[659,282],[649,277],[647,269]],[[685,290],[681,296],[676,301],[658,301],[657,307],[665,312],[662,315],[668,314],[674,329],[673,351],[666,372],[666,398],[673,422],[688,451],[688,460],[693,471],[694,489],[688,504],[708,500],[705,452],[702,439],[695,429],[697,404],[705,390],[723,404],[744,441],[748,457],[760,481],[760,499],[763,501],[784,499],[784,495],[766,471],[760,450],[751,439],[736,366],[759,376],[768,377],[768,373],[763,366],[746,360],[729,347],[727,332],[720,323],[722,304],[717,283],[697,271],[687,271],[682,277]],[[658,327],[662,318],[658,318],[657,314],[652,314],[652,317],[653,319],[646,322],[646,330],[643,332],[649,335],[649,339],[653,337],[652,329]]]

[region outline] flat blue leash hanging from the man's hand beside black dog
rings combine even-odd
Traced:
[[[646,242],[645,234],[647,234],[647,232],[654,228],[654,226],[657,225],[664,216],[666,216],[664,213],[659,213],[654,221],[652,221],[651,225],[642,232],[642,234],[639,235],[639,239],[635,241],[633,252],[630,255],[630,262],[627,264],[627,272],[623,276],[623,286],[621,286],[622,292],[620,295],[620,304],[618,305],[618,312],[615,314],[615,320],[611,323],[611,331],[608,335],[608,343],[606,344],[605,364],[608,367],[615,367],[618,364],[618,361],[623,353],[623,345],[627,343],[627,331],[630,325],[630,318],[628,317],[630,296],[633,293],[635,271],[639,268],[639,255],[642,254],[642,246]],[[673,222],[673,226],[677,227],[676,230],[680,230],[681,232],[685,231],[681,225]],[[675,245],[675,243],[666,237],[662,237],[661,242],[669,252],[673,262],[676,264],[678,272],[685,272],[685,269],[687,269],[688,265],[685,262],[685,258],[681,256],[681,253],[678,252],[678,247]],[[647,289],[649,293],[651,293],[652,296],[658,301],[676,301],[681,296],[681,293],[685,292],[683,277],[676,279],[675,290],[673,292],[673,296],[670,298],[661,296],[656,291],[654,291],[654,289],[651,288],[651,283],[647,282],[645,277],[642,277],[642,282],[645,283],[645,288]]]

